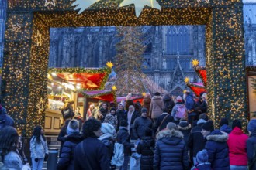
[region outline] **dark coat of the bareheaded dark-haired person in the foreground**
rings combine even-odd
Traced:
[[[75,170],[109,170],[109,152],[97,138],[85,138],[74,149]]]

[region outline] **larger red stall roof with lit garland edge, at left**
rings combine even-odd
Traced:
[[[111,68],[53,68],[48,78],[81,90],[102,90],[108,80]]]

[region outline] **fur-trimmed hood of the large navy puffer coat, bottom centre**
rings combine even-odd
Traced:
[[[164,142],[167,145],[178,145],[183,139],[181,131],[163,130],[157,134],[157,140]]]

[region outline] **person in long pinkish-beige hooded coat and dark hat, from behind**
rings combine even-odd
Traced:
[[[160,93],[154,93],[154,97],[152,97],[151,104],[150,104],[150,117],[153,119],[154,124],[157,121],[157,117],[160,117],[163,113],[164,109],[164,101],[163,98],[160,96]]]

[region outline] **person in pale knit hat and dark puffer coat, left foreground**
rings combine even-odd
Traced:
[[[69,121],[67,125],[67,137],[61,151],[57,170],[74,169],[74,148],[83,140],[82,134],[79,133],[79,122],[76,120]]]

